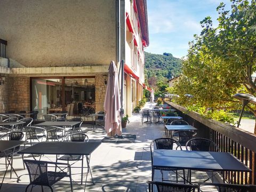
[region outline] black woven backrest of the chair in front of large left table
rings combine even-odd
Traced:
[[[49,186],[46,162],[25,159],[24,163],[28,170],[30,184]]]

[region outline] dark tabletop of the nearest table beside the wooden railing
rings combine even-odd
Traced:
[[[229,153],[166,149],[154,150],[153,167],[209,171],[251,171]]]

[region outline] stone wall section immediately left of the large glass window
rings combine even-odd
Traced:
[[[29,77],[8,78],[7,110],[30,110]]]

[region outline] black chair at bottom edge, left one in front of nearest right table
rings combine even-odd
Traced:
[[[177,183],[166,183],[158,181],[147,181],[149,192],[154,191],[153,185],[156,186],[158,192],[199,192],[198,185],[183,185]]]

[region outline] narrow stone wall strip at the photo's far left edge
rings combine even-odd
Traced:
[[[5,77],[4,84],[0,85],[0,113],[7,111],[9,78]]]

